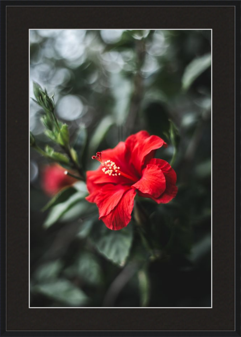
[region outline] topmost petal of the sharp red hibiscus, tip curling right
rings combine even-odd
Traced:
[[[167,146],[163,139],[158,136],[150,136],[146,131],[132,134],[126,140],[126,160],[134,164],[137,172],[141,173],[145,158],[154,156],[155,151],[162,146]]]

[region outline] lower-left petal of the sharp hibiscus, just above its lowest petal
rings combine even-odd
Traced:
[[[105,184],[95,189],[85,199],[90,203],[96,203],[101,217],[110,213],[128,189],[130,189],[130,186]]]

